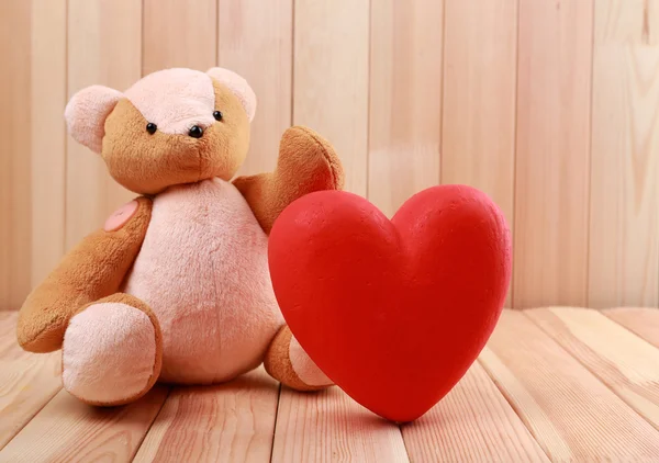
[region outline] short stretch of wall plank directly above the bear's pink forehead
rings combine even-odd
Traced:
[[[217,56],[217,0],[144,0],[143,75],[183,67],[205,71]]]

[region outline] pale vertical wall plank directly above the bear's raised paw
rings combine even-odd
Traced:
[[[366,195],[369,0],[298,0],[293,123],[327,138],[346,169],[346,190]]]

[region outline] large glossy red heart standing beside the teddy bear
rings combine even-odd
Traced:
[[[400,422],[467,372],[511,279],[503,214],[465,185],[424,190],[391,221],[350,193],[309,194],[279,216],[268,253],[300,345],[356,402]]]

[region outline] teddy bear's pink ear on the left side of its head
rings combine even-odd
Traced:
[[[100,154],[105,118],[122,98],[122,92],[103,86],[87,87],[74,94],[64,112],[74,139]]]

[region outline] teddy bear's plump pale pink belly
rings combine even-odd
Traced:
[[[224,382],[263,361],[283,325],[267,239],[231,183],[208,180],[156,196],[125,292],[160,323],[160,381]]]

